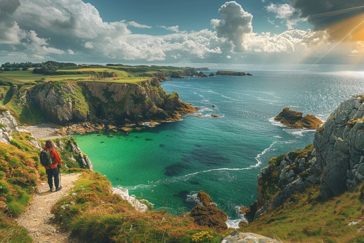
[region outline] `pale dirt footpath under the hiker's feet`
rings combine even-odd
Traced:
[[[32,203],[18,219],[19,225],[28,229],[35,243],[67,243],[69,234],[59,232],[56,224],[52,222],[51,207],[74,187],[73,182],[80,174],[61,175],[62,190],[50,192],[47,183],[38,186]]]

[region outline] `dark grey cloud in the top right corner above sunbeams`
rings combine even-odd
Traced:
[[[316,28],[326,28],[338,21],[364,13],[363,0],[288,0]]]

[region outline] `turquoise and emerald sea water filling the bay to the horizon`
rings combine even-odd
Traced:
[[[237,223],[236,209],[256,200],[256,176],[269,158],[313,141],[313,131],[285,128],[271,118],[290,106],[324,120],[341,101],[364,93],[364,72],[253,74],[162,82],[167,92],[177,91],[183,101],[200,106],[197,113],[206,117],[186,115],[128,134],[75,138],[95,171],[130,194],[142,193],[156,209],[187,212],[203,190],[227,212],[230,224]]]

